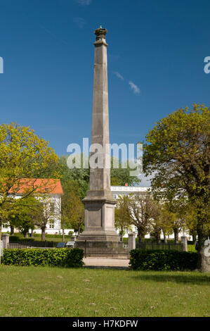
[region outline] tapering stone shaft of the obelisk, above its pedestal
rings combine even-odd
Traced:
[[[107,84],[107,43],[105,34],[107,30],[96,30],[94,83],[93,83],[93,118],[91,144],[102,146],[103,168],[95,168],[90,171],[90,191],[100,190],[101,195],[110,196],[110,143],[109,137],[109,108],[108,108],[108,84]],[[107,162],[106,162],[107,161]]]

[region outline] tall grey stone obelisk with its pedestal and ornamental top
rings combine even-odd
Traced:
[[[109,134],[109,108],[107,86],[107,43],[105,40],[106,29],[102,27],[95,31],[95,63],[93,84],[93,118],[91,132],[91,146],[100,144],[103,151],[100,160],[103,166],[92,167],[90,164],[90,189],[83,199],[85,204],[85,227],[78,240],[92,241],[119,241],[119,236],[114,230],[114,201],[110,189],[110,143]],[[92,151],[92,154],[94,152]],[[103,154],[103,155],[102,155]],[[99,154],[98,154],[99,155]]]

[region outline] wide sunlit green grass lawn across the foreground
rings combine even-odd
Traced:
[[[210,316],[210,275],[0,266],[0,316]]]

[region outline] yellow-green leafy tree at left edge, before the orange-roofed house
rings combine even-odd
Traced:
[[[0,238],[1,224],[11,211],[11,204],[18,201],[14,196],[22,189],[22,179],[21,200],[37,190],[37,178],[58,177],[57,162],[48,142],[35,135],[34,130],[15,123],[0,125]]]

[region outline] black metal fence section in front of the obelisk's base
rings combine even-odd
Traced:
[[[75,242],[75,247],[84,249],[84,257],[126,257],[129,253],[127,242]]]

